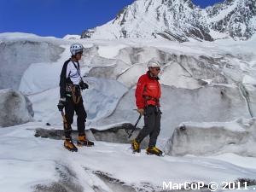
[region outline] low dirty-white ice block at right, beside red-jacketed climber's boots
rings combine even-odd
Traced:
[[[234,153],[256,156],[256,119],[232,122],[184,123],[166,144],[167,154],[214,155]]]

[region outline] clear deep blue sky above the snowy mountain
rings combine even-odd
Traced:
[[[223,0],[192,0],[205,8]],[[62,38],[112,20],[134,0],[0,0],[0,32]]]

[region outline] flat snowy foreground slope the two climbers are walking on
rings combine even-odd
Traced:
[[[53,183],[59,183],[67,191],[140,189],[149,192],[160,191],[163,182],[221,184],[238,178],[256,179],[254,161],[248,163],[250,159],[241,157],[227,160],[224,155],[160,158],[148,156],[144,150],[142,154],[131,154],[128,144],[102,142],[96,142],[93,148],[79,148],[79,153],[70,153],[62,147],[62,141],[33,137],[34,129],[41,126],[28,123],[0,129],[0,171],[4,173],[0,176],[0,185],[4,192],[36,191],[43,186],[51,189]],[[229,154],[232,156],[236,157]],[[118,179],[117,186],[109,187],[111,179]],[[125,190],[121,183],[130,190]]]

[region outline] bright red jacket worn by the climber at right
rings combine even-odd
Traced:
[[[138,79],[135,92],[137,108],[147,105],[160,106],[161,89],[158,81],[159,78],[151,77],[149,72]]]

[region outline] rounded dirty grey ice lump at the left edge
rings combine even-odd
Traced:
[[[34,115],[32,102],[19,91],[0,90],[0,126],[24,124]]]

